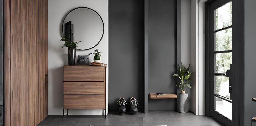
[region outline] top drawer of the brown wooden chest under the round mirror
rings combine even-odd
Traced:
[[[63,81],[105,81],[104,67],[63,67]]]

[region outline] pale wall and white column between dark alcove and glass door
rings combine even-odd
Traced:
[[[204,11],[204,3],[199,6],[198,0],[181,0],[178,8],[181,18],[180,31],[178,27],[181,51],[178,52],[181,53],[181,61],[186,66],[190,64],[190,70],[196,70],[190,77],[191,90],[186,89],[190,97],[190,111],[195,115],[205,115]]]

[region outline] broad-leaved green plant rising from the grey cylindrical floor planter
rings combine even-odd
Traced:
[[[179,64],[178,64],[179,66]],[[179,74],[173,74],[173,76],[177,76],[180,80],[181,83],[177,84],[176,86],[179,86],[179,88],[182,90],[181,94],[185,94],[185,87],[189,87],[191,89],[191,86],[189,84],[189,82],[191,80],[188,80],[188,78],[190,77],[190,75],[195,71],[188,71],[190,67],[190,64],[188,65],[188,68],[186,68],[182,62],[181,62],[181,66],[179,66]],[[186,81],[187,80],[187,81]]]

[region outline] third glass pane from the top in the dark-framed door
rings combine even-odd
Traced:
[[[232,64],[232,53],[217,53],[215,55],[215,73],[226,73]]]

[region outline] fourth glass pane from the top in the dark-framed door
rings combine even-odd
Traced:
[[[229,77],[214,76],[215,79],[215,93],[227,98],[230,98],[229,93]]]

